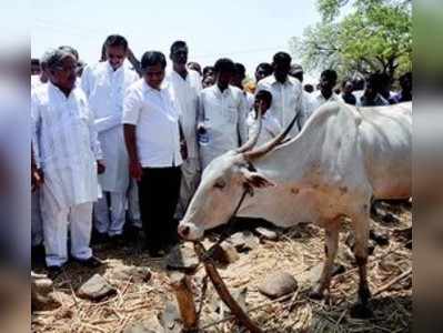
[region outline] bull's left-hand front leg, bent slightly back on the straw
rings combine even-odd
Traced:
[[[324,246],[326,260],[324,261],[324,266],[320,280],[313,286],[310,293],[310,296],[312,299],[322,299],[324,290],[329,289],[329,285],[331,283],[332,266],[334,264],[336,250],[339,246],[339,226],[340,225],[334,223],[333,225],[329,225],[326,229]]]

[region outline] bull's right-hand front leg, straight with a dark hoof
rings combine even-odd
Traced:
[[[368,307],[371,299],[371,291],[368,284],[368,242],[369,242],[369,212],[360,216],[353,216],[353,226],[355,232],[354,255],[359,266],[359,299],[355,306],[352,309],[352,314],[358,317],[368,317],[372,312]]]

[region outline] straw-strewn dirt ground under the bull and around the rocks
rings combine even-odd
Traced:
[[[241,253],[236,262],[220,266],[219,272],[231,291],[246,287],[248,313],[265,332],[411,332],[412,273],[395,283],[390,282],[412,268],[412,250],[406,246],[410,240],[403,232],[412,228],[412,209],[404,202],[380,202],[376,208],[371,228],[386,233],[389,244],[375,245],[369,260],[369,282],[375,293],[371,301],[373,316],[369,320],[350,316],[356,297],[358,274],[352,252],[345,244],[346,223],[336,259],[345,271],[333,278],[330,296],[324,301],[308,297],[312,268],[324,259],[324,233],[312,224],[281,231],[279,241],[261,240],[260,245]],[[119,250],[98,245],[95,254],[104,260],[103,268],[93,271],[72,263],[54,281],[54,295],[62,305],[53,311],[34,312],[32,332],[123,332],[133,323],[155,319],[167,302],[174,300],[165,261],[150,259],[140,245],[128,244]],[[115,274],[128,266],[148,266],[152,276],[142,282]],[[42,266],[34,269],[44,273]],[[259,293],[258,285],[276,271],[293,275],[299,290],[283,300],[271,301]],[[117,295],[95,303],[75,295],[79,286],[95,273],[102,274],[117,289]],[[195,273],[197,286],[203,273],[202,269]],[[244,332],[232,320],[213,325],[224,313],[223,306],[214,306],[218,302],[210,287],[201,316],[202,332]]]

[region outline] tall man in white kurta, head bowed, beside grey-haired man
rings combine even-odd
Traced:
[[[88,67],[81,87],[94,114],[95,129],[107,162],[107,171],[99,176],[104,193],[94,205],[94,226],[100,234],[114,238],[123,233],[129,189],[129,160],[121,124],[123,97],[127,88],[138,80],[138,74],[124,63],[128,42],[123,37],[110,36],[104,46],[107,61]]]

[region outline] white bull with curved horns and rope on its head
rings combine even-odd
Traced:
[[[239,216],[279,226],[315,222],[325,228],[326,260],[311,293],[321,297],[330,284],[340,222],[349,216],[360,273],[358,305],[366,310],[371,200],[411,195],[412,103],[360,109],[326,103],[299,135],[281,143],[283,139],[284,133],[251,150],[253,138],[209,164],[179,234],[198,240],[204,230],[226,223],[244,189],[253,189]]]

